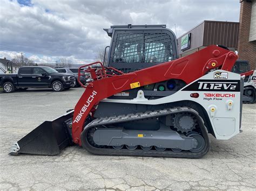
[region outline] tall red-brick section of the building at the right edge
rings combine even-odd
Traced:
[[[240,0],[238,56],[256,68],[256,0]]]

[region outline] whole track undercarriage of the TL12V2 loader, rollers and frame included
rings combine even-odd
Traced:
[[[81,135],[93,154],[200,158],[209,149],[198,112],[188,107],[96,118]]]

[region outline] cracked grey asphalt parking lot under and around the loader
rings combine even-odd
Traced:
[[[78,146],[54,157],[8,155],[12,142],[75,107],[83,90],[0,93],[0,189],[256,188],[256,104],[243,105],[244,131],[228,141],[211,137],[201,159],[102,156]]]

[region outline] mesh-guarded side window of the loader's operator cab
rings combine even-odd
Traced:
[[[163,63],[174,59],[172,37],[164,32],[119,32],[113,44],[112,63]]]

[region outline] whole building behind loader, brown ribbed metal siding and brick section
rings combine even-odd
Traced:
[[[179,56],[183,57],[209,45],[223,45],[238,51],[239,59],[256,66],[256,0],[240,1],[238,22],[204,20],[178,38]]]

